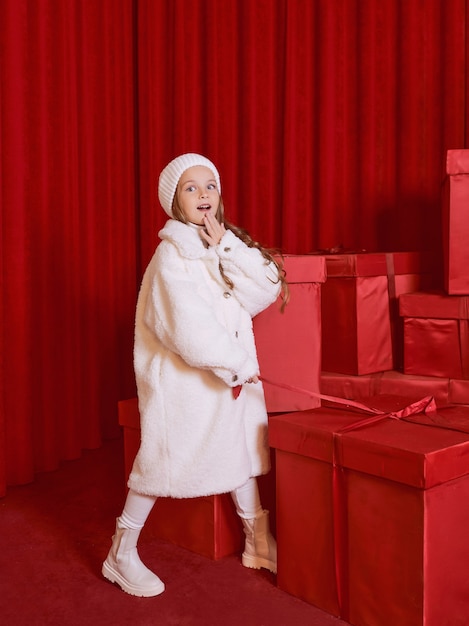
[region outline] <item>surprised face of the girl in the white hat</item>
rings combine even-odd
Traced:
[[[179,179],[177,201],[188,222],[202,226],[204,215],[216,215],[220,194],[212,171],[203,165],[187,169]]]

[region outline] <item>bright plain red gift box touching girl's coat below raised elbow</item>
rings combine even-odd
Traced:
[[[272,381],[319,392],[321,372],[322,257],[285,255],[290,302],[282,313],[276,302],[254,318],[261,375]],[[264,386],[267,411],[280,413],[319,406],[316,398],[274,385]]]

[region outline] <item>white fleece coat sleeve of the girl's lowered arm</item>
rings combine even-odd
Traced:
[[[258,374],[256,359],[217,319],[214,307],[199,291],[200,281],[188,273],[184,259],[172,245],[162,245],[160,252],[147,270],[146,286],[142,285],[137,325],[141,323],[146,332],[156,334],[187,364],[211,370],[230,387]]]

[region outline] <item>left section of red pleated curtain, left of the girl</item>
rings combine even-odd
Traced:
[[[130,0],[0,3],[0,491],[115,436],[134,392],[133,35]]]

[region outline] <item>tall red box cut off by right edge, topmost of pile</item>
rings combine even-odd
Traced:
[[[469,294],[469,150],[448,150],[443,200],[444,285]]]

